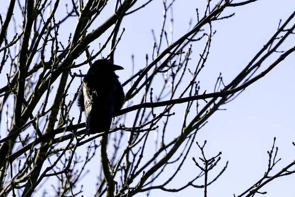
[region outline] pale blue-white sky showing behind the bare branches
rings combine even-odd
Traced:
[[[66,2],[68,1],[61,0],[60,5]],[[142,5],[144,2],[146,0],[139,0],[135,7]],[[170,3],[171,0],[167,2]],[[240,1],[236,0],[234,2]],[[0,7],[0,13],[3,14],[6,13],[8,0],[3,0],[1,3],[4,3]],[[93,24],[92,29],[99,26],[101,22],[111,15],[114,10],[114,3],[115,0],[108,1],[108,5],[103,10],[101,18]],[[206,3],[207,0],[176,0],[173,6],[174,41],[187,32],[187,24],[190,19],[193,20],[192,24],[196,23],[197,16],[195,10],[197,7],[200,11],[200,17],[203,15]],[[60,6],[57,18],[64,15],[62,7],[64,6]],[[207,90],[207,93],[210,93],[213,91],[219,72],[222,72],[224,83],[226,85],[230,83],[236,74],[266,44],[271,35],[276,31],[279,20],[282,19],[284,22],[294,9],[294,0],[258,0],[245,6],[227,8],[223,15],[233,12],[236,15],[230,19],[216,21],[212,24],[213,30],[217,32],[212,38],[206,67],[199,79],[197,79],[201,81],[201,92]],[[19,14],[19,9],[17,8],[14,15],[17,18]],[[130,76],[132,54],[135,56],[136,70],[145,66],[146,53],[151,57],[153,47],[151,29],[154,29],[156,35],[159,35],[162,16],[163,2],[161,0],[154,0],[146,8],[124,18],[120,29],[125,28],[125,33],[118,44],[115,55],[115,63],[125,68],[117,72],[121,82],[124,82]],[[170,17],[170,11],[168,12],[168,17]],[[76,18],[73,17],[71,22],[72,24],[69,23],[64,29],[60,29],[59,34],[62,34],[61,36],[64,36],[66,40],[69,33],[74,31]],[[167,25],[169,25],[169,22]],[[95,41],[95,44],[91,45],[90,51],[92,49],[98,51],[98,43],[103,42],[108,32]],[[294,44],[295,35],[290,36],[279,50],[288,50]],[[203,42],[197,42],[193,45],[190,67],[197,63],[203,47]],[[103,56],[106,55],[107,52],[103,54]],[[260,71],[269,66],[279,55],[272,55],[262,65]],[[77,60],[77,63],[84,61],[84,58],[85,56],[82,55]],[[198,131],[196,140],[200,143],[207,140],[206,154],[208,158],[222,151],[219,167],[217,166],[216,170],[209,174],[209,179],[215,177],[218,174],[217,170],[221,169],[229,161],[225,173],[208,187],[209,197],[233,197],[233,194],[238,196],[256,183],[267,169],[268,155],[266,151],[270,150],[273,137],[277,138],[276,146],[279,147],[277,157],[282,158],[282,160],[274,168],[271,175],[295,160],[295,147],[292,144],[295,141],[294,62],[295,53],[288,56],[265,77],[248,87],[237,99],[223,105],[222,108],[227,110],[217,111],[208,119],[209,123],[202,130]],[[83,66],[81,69],[86,73],[88,67]],[[0,83],[3,84],[6,79],[0,80]],[[187,82],[188,79],[184,80],[183,85],[187,84]],[[74,83],[71,86],[72,92],[70,92],[74,93],[78,85],[78,81]],[[125,92],[128,88],[129,86],[124,88]],[[134,104],[136,103],[138,103],[138,100],[134,99]],[[184,106],[185,104],[179,104],[173,108],[172,111],[176,112],[176,116],[172,117],[174,125],[170,125],[169,132],[180,132]],[[78,114],[78,107],[73,112]],[[131,122],[128,124],[127,120],[126,126],[131,127]],[[3,136],[2,134],[3,130],[1,131],[1,136]],[[150,150],[153,151],[153,145],[151,144],[150,146]],[[85,149],[80,148],[79,152],[83,153],[83,151]],[[180,188],[187,181],[190,181],[193,176],[199,174],[200,171],[191,158],[199,158],[200,156],[200,150],[194,144],[177,178],[167,188]],[[97,164],[100,164],[98,155],[88,165],[90,173],[82,182],[79,182],[79,184],[84,185],[85,192],[83,194],[86,197],[92,196],[95,187],[93,183],[96,182],[95,179],[98,175],[98,172],[96,173],[98,170]],[[173,168],[168,169],[171,171],[167,170],[165,173],[167,175],[172,174]],[[160,180],[165,180],[164,178]],[[196,181],[196,184],[203,185],[203,179]],[[294,184],[295,175],[281,177],[267,184],[260,192],[266,191],[265,197],[294,197]],[[49,191],[53,190],[49,188]],[[145,195],[145,193],[140,193],[137,196],[143,197]],[[202,197],[204,196],[204,190],[192,187],[188,187],[178,193],[153,190],[150,195],[155,197],[160,195]]]

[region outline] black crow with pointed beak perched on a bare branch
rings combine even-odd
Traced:
[[[114,72],[121,69],[107,59],[97,60],[84,77],[78,106],[85,111],[88,135],[109,131],[113,114],[123,106],[123,88]]]

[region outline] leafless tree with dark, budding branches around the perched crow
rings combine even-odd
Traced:
[[[221,152],[206,156],[206,141],[195,144],[197,132],[221,106],[236,99],[295,51],[295,46],[287,48],[259,73],[261,64],[279,52],[287,37],[294,36],[293,12],[279,22],[261,50],[229,84],[224,84],[220,74],[212,92],[200,92],[198,77],[210,58],[214,23],[234,17],[234,13],[224,14],[230,7],[254,1],[208,0],[204,10],[196,9],[195,23],[190,22],[187,32],[182,31],[182,36],[174,40],[172,9],[176,0],[163,0],[162,28],[158,36],[152,32],[154,43],[147,49],[146,65],[135,66],[132,56],[132,75],[121,81],[126,99],[123,109],[115,114],[118,118],[113,129],[87,136],[83,114],[73,112],[77,111],[76,99],[85,74],[77,72],[100,59],[102,53],[114,62],[116,48],[125,35],[122,22],[148,9],[154,1],[10,0],[6,14],[0,17],[0,75],[2,81],[7,79],[0,87],[0,197],[30,197],[38,190],[43,196],[83,195],[87,165],[94,157],[101,158],[93,172],[100,173],[96,197],[132,197],[154,189],[178,192],[187,187],[201,188],[206,197],[208,186],[223,174],[227,163],[214,179],[208,179],[210,170],[219,164]],[[101,21],[102,12],[113,5],[115,11]],[[23,18],[16,20],[14,12],[21,12]],[[58,16],[60,12],[63,17]],[[74,31],[65,32],[73,20]],[[97,39],[102,43],[99,47]],[[204,44],[204,48],[193,64],[190,59],[196,43]],[[96,47],[91,50],[93,45]],[[173,109],[179,103],[185,104],[183,119],[179,120],[182,127],[171,133],[167,128],[173,124]],[[150,151],[151,142],[154,152]],[[87,147],[84,154],[78,151],[83,147]],[[186,160],[189,151],[197,148],[202,157]],[[295,172],[293,162],[271,175],[279,161],[274,144],[268,154],[265,175],[239,197],[261,193],[270,181]],[[178,188],[169,188],[184,162],[194,162],[199,174]],[[175,164],[174,173],[167,177],[165,171]],[[160,181],[163,177],[165,181]],[[204,179],[204,184],[197,185],[197,179]],[[46,185],[49,182],[50,186]],[[49,188],[54,193],[48,193]]]

